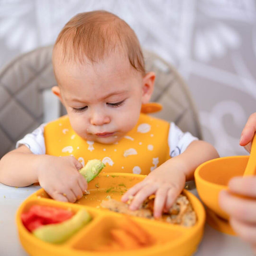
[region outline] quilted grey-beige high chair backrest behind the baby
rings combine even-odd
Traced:
[[[44,120],[43,91],[56,85],[51,52],[52,46],[38,48],[0,71],[0,157]],[[144,54],[146,70],[157,74],[152,101],[163,105],[163,110],[154,115],[202,138],[197,111],[180,75],[157,55],[148,51]],[[59,114],[64,113],[61,107]]]

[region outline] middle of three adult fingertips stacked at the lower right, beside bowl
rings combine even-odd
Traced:
[[[256,225],[256,200],[241,198],[231,195],[228,191],[221,191],[219,205],[233,218]]]

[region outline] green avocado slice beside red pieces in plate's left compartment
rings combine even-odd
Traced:
[[[91,215],[85,209],[81,209],[72,218],[61,223],[39,227],[33,231],[33,234],[45,242],[61,244],[85,226],[91,219]]]

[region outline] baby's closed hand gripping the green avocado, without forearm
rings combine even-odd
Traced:
[[[81,198],[87,183],[79,173],[83,165],[74,157],[42,156],[38,168],[38,182],[55,200],[72,202]]]

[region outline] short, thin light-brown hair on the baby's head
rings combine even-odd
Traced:
[[[54,50],[61,46],[62,61],[80,61],[85,56],[91,61],[100,61],[111,52],[122,50],[131,65],[143,75],[145,63],[134,30],[118,16],[106,11],[82,12],[75,15],[62,28]]]

